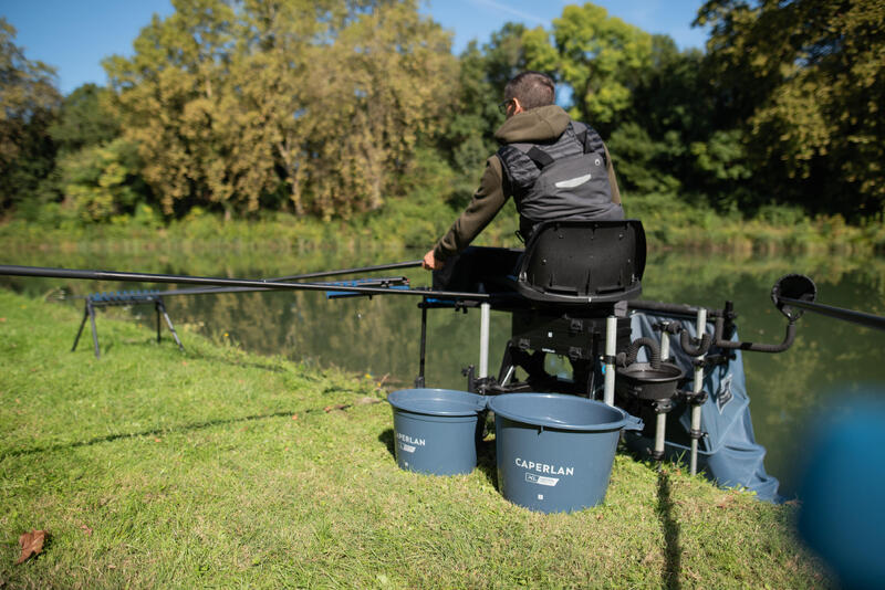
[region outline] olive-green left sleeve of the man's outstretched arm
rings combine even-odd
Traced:
[[[445,261],[464,251],[486,225],[494,219],[507,202],[501,181],[501,160],[492,156],[486,161],[486,171],[479,188],[464,213],[434,247],[434,257]]]

